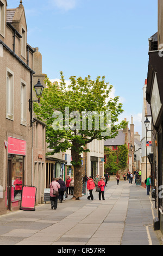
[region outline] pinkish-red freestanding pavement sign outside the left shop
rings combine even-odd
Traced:
[[[36,191],[34,186],[23,186],[20,210],[35,211]]]

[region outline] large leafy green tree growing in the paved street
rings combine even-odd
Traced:
[[[114,138],[126,122],[118,123],[123,112],[119,97],[110,98],[112,86],[105,77],[70,77],[67,86],[60,72],[60,82],[51,83],[46,77],[40,104],[34,104],[36,117],[46,123],[46,141],[55,145],[49,154],[71,150],[74,167],[74,196],[82,197],[82,158],[86,144],[93,139]],[[111,113],[110,115],[107,113]],[[108,118],[109,117],[109,118]],[[110,130],[109,128],[110,127]]]

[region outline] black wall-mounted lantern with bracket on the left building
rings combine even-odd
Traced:
[[[33,118],[32,118],[32,114],[33,114],[33,102],[39,102],[40,103],[40,97],[42,95],[43,89],[44,87],[42,86],[40,79],[38,80],[37,84],[35,84],[34,86],[35,88],[35,92],[36,92],[36,96],[38,98],[38,100],[32,100],[32,90],[30,90],[30,99],[29,99],[29,111],[30,111],[30,126],[32,127],[33,124]]]

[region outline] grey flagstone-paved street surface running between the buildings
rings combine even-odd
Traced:
[[[68,196],[57,210],[46,203],[0,216],[0,245],[162,245],[160,231],[153,230],[154,201],[144,188],[109,181],[104,201],[93,196]]]

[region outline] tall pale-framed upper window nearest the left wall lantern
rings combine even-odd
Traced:
[[[27,100],[26,100],[26,84],[21,81],[21,124],[26,125],[27,123]]]

